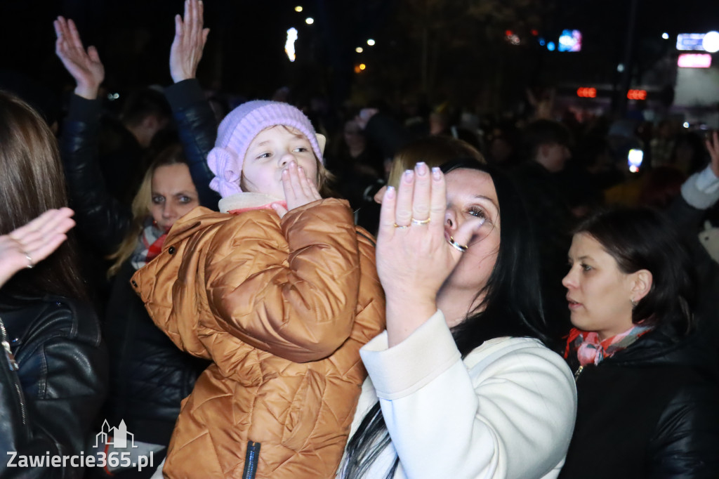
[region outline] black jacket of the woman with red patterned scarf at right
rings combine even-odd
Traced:
[[[582,368],[559,477],[718,478],[719,390],[698,340],[649,332]]]

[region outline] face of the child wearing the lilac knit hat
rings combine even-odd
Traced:
[[[309,140],[297,129],[277,125],[263,129],[247,148],[242,163],[242,191],[285,198],[282,171],[290,161],[305,170],[317,186],[317,160]]]

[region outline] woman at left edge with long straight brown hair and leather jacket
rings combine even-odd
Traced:
[[[21,457],[27,466],[28,456],[81,453],[106,393],[107,357],[73,245],[60,245],[73,222],[55,137],[37,112],[2,92],[0,202],[0,354],[9,364],[0,385],[0,475],[79,478],[76,461],[8,463],[13,453],[19,466]],[[12,275],[22,255],[26,266]]]

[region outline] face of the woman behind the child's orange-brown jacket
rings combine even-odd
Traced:
[[[150,214],[157,227],[170,231],[175,221],[200,206],[195,183],[184,163],[158,166],[152,174]]]

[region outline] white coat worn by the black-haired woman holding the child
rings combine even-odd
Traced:
[[[536,339],[500,337],[462,361],[437,311],[388,348],[387,332],[360,350],[370,377],[352,434],[380,398],[391,444],[365,477],[556,478],[574,429],[577,392],[567,364]]]

